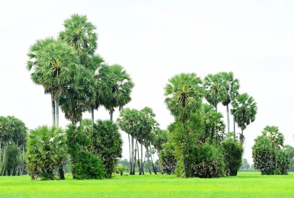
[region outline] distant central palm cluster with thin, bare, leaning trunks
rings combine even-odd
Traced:
[[[160,151],[162,149],[162,144],[167,142],[168,132],[166,130],[159,129],[159,124],[154,117],[155,114],[149,107],[145,107],[142,110],[126,108],[120,111],[117,123],[120,128],[128,134],[130,175],[135,175],[136,162],[138,163],[139,175],[144,175],[144,163],[147,154],[151,151],[151,145]],[[134,140],[136,140],[136,142],[134,142]],[[141,154],[139,152],[139,145]],[[144,160],[143,147],[146,148]],[[153,171],[157,174],[154,168],[152,154],[150,156]],[[150,169],[149,173],[151,174]]]

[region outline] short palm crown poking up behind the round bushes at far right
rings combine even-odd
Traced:
[[[266,126],[263,129],[262,134],[269,136],[277,148],[284,146],[284,135],[279,132],[279,128],[277,126]]]

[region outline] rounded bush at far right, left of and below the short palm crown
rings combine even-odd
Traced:
[[[254,141],[255,144],[252,147],[254,168],[259,170],[262,175],[274,175],[277,158],[272,141],[266,135],[258,136]]]

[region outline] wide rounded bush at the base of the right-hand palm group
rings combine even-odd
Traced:
[[[224,175],[223,155],[209,144],[194,147],[189,154],[189,164],[191,176],[211,178]]]

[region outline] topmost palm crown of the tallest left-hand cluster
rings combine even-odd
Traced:
[[[77,50],[82,65],[94,55],[97,48],[96,26],[88,22],[86,15],[73,14],[63,23],[64,31],[59,33],[59,39],[70,44]]]

